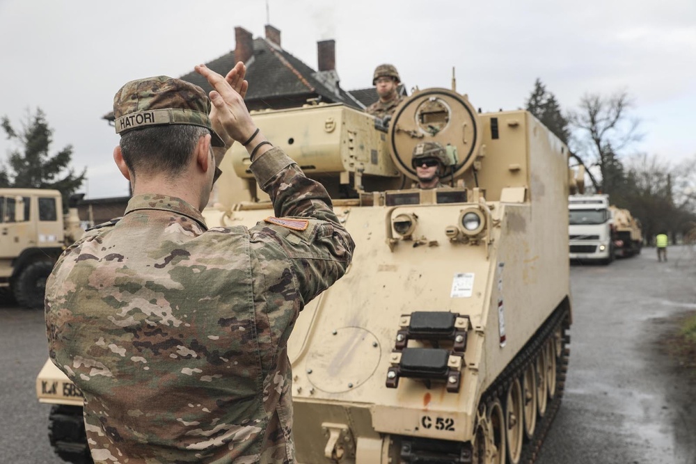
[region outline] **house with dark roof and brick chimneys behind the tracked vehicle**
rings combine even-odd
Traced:
[[[235,27],[235,49],[205,63],[223,76],[242,61],[246,64],[246,80],[249,90],[244,101],[250,111],[264,109],[296,108],[308,102],[342,103],[363,110],[377,101],[374,87],[347,91],[341,88],[336,72],[335,40],[317,42],[317,70],[283,49],[280,30],[267,24],[265,36],[253,38],[243,27]],[[379,64],[379,63],[378,63]],[[372,68],[365,70],[367,79]],[[195,71],[180,77],[209,92],[212,87]],[[405,95],[404,86],[400,93]],[[104,115],[113,125],[113,112]],[[91,223],[109,221],[125,210],[129,197],[81,200],[78,203],[80,217]],[[120,211],[120,214],[114,214]]]

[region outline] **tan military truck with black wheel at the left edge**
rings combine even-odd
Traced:
[[[81,233],[76,209],[63,216],[59,191],[0,189],[0,287],[19,305],[43,307],[56,259]]]

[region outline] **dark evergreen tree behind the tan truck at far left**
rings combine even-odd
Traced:
[[[75,174],[70,168],[72,145],[56,154],[49,152],[53,141],[53,129],[49,127],[46,115],[41,109],[28,113],[17,131],[7,116],[1,125],[7,138],[17,143],[10,151],[9,161],[0,170],[0,185],[19,189],[56,189],[63,196],[63,208],[68,208],[68,198],[84,182],[86,170]]]

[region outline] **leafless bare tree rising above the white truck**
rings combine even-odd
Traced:
[[[642,138],[638,119],[628,114],[632,106],[626,92],[608,97],[587,94],[580,99],[578,110],[569,112],[575,129],[571,143],[575,156],[587,167],[599,167],[601,182],[590,175],[596,191],[611,194],[625,181],[620,157],[626,147]]]

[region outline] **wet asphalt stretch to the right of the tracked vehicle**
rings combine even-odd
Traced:
[[[696,253],[573,266],[570,365],[537,463],[696,463],[696,377],[661,341],[696,310]]]

